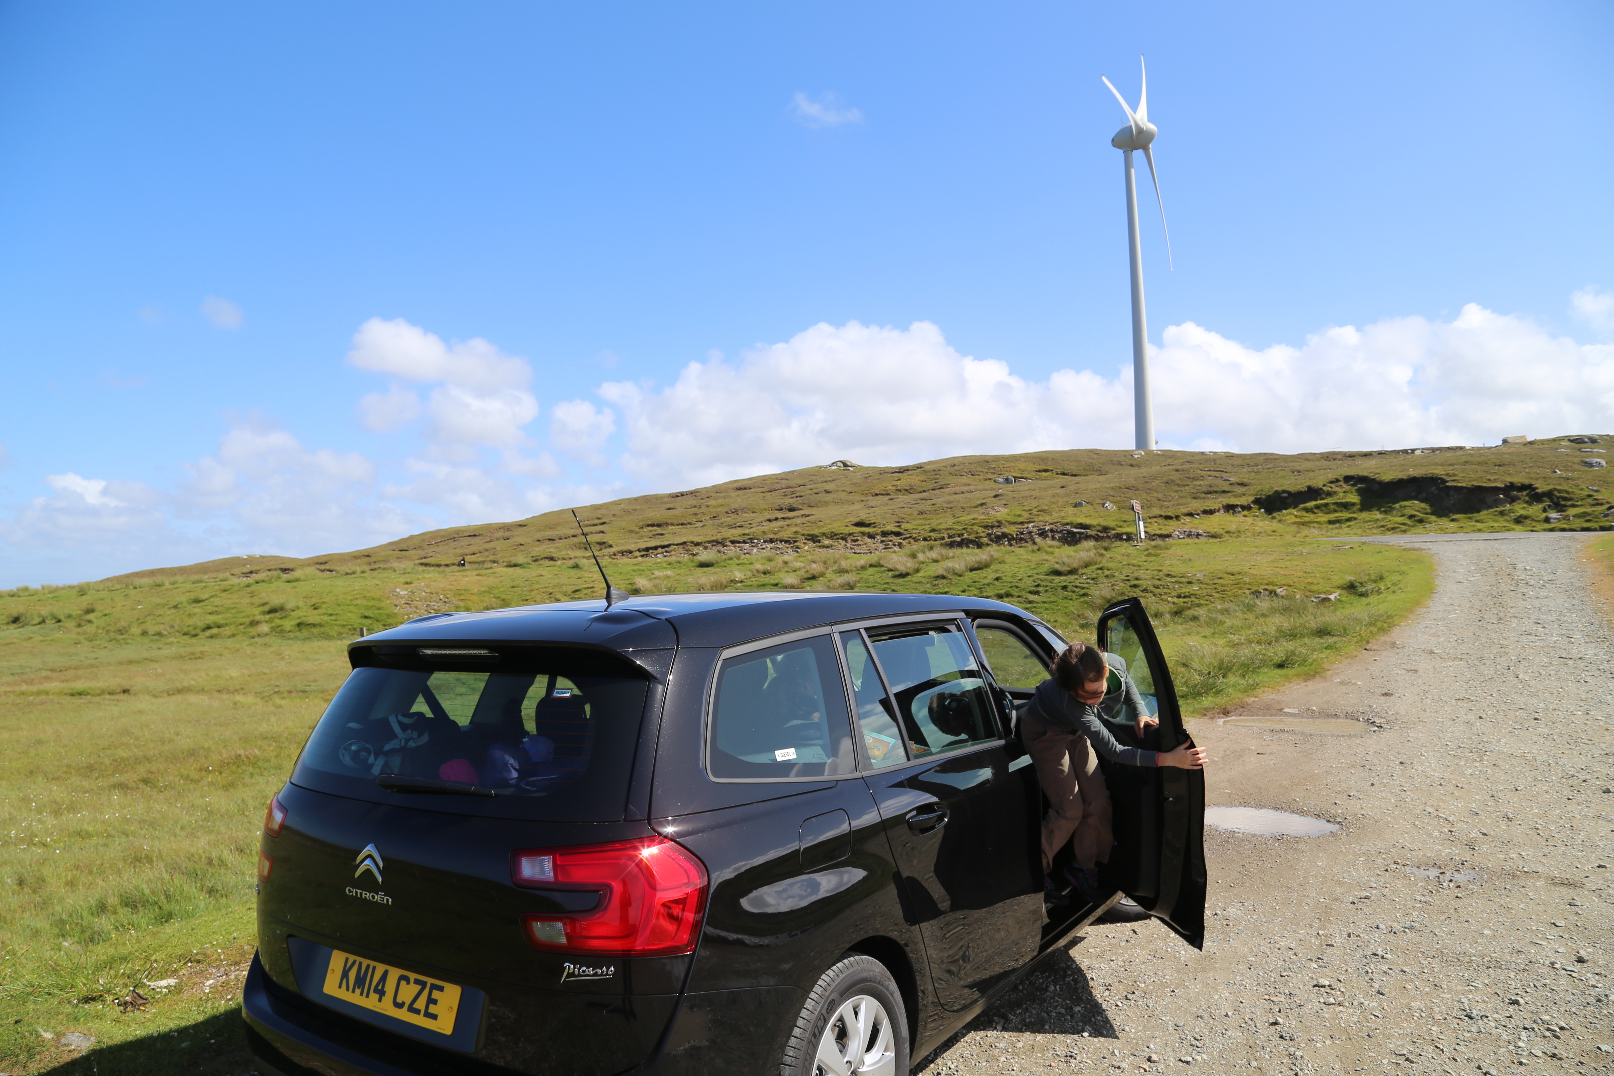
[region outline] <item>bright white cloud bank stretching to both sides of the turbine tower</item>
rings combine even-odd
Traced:
[[[1453,321],[1332,327],[1246,348],[1196,324],[1151,358],[1162,445],[1241,452],[1495,444],[1509,432],[1614,426],[1614,347],[1466,307]],[[935,324],[818,324],[739,363],[689,363],[662,389],[607,382],[623,469],[697,486],[852,458],[914,460],[1131,444],[1131,371],[1047,381],[959,355]]]

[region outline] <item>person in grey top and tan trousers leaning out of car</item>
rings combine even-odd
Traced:
[[[1085,902],[1098,902],[1101,895],[1098,865],[1109,861],[1114,834],[1109,789],[1094,752],[1128,766],[1204,766],[1202,747],[1181,744],[1170,752],[1151,752],[1117,742],[1099,715],[1104,697],[1117,692],[1123,692],[1120,699],[1131,703],[1139,737],[1148,726],[1159,724],[1127,676],[1125,661],[1098,647],[1073,642],[1054,658],[1054,674],[1038,686],[1020,719],[1020,737],[1049,802],[1043,820],[1043,874],[1051,902],[1062,900],[1060,886],[1047,873],[1067,840],[1075,861],[1065,868],[1065,879]]]

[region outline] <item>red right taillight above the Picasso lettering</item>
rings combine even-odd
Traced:
[[[705,911],[700,860],[667,837],[510,855],[510,881],[525,889],[596,892],[586,911],[528,913],[521,934],[557,953],[673,957],[694,952]]]

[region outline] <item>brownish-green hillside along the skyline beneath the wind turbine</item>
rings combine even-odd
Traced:
[[[1133,498],[1143,502],[1156,532],[1194,528],[1257,537],[1608,529],[1603,513],[1614,500],[1591,489],[1601,487],[1601,473],[1582,466],[1583,458],[1603,458],[1608,442],[1614,436],[1593,444],[1554,437],[1488,448],[1301,455],[1080,448],[954,457],[893,468],[783,471],[628,497],[579,515],[602,552],[636,560],[1130,536]],[[1104,508],[1106,502],[1115,508]],[[1548,521],[1551,513],[1567,518]],[[581,550],[571,515],[550,511],[515,523],[413,534],[350,553],[231,558],[123,579],[286,573],[300,566],[328,573],[374,565],[444,568],[462,557],[471,566],[521,566],[571,560]]]

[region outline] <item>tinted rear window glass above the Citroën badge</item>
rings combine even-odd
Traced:
[[[292,781],[387,799],[378,778],[492,789],[520,818],[621,818],[647,682],[554,671],[358,668],[331,700]],[[420,795],[408,794],[420,807]],[[444,810],[470,797],[436,795]],[[487,803],[487,800],[481,800]],[[476,811],[481,813],[481,811]]]

